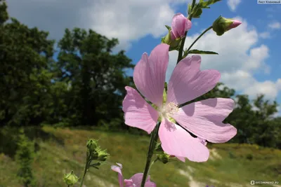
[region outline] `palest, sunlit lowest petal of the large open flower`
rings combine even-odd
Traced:
[[[205,162],[209,158],[209,150],[182,127],[169,120],[162,120],[159,127],[159,139],[163,151],[169,155],[186,157],[193,162]]]

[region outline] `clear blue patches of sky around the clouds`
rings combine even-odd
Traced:
[[[176,12],[183,13],[184,15],[187,14],[186,7],[182,5],[176,6]],[[206,29],[211,25],[212,22],[214,22],[214,20],[216,20],[216,18],[218,18],[219,15],[222,15],[225,18],[235,18],[238,16],[247,20],[249,27],[254,27],[256,31],[261,34],[259,41],[257,41],[253,45],[253,47],[265,45],[269,48],[269,56],[265,62],[268,67],[270,67],[270,73],[266,74],[261,71],[254,72],[253,76],[256,81],[275,82],[278,78],[281,78],[281,4],[262,5],[256,4],[256,1],[241,1],[241,3],[235,8],[235,11],[232,11],[230,6],[228,6],[227,1],[218,2],[212,5],[210,9],[204,9],[201,18],[194,18],[192,20],[193,26],[192,29],[188,32],[188,35],[192,36],[193,34],[200,32],[202,29]],[[235,32],[235,29],[230,30],[230,32]],[[152,48],[159,44],[159,41],[160,38],[155,38],[152,35],[145,36],[142,39],[139,39],[138,41],[132,42],[131,48],[129,48],[126,54],[133,60],[133,63],[136,64],[138,60],[140,60],[140,57],[143,52],[150,53]],[[198,42],[200,43],[208,41],[200,40]],[[247,53],[249,53],[249,50],[247,51]],[[132,71],[129,71],[129,74],[132,74]],[[228,86],[232,88],[231,85]],[[241,90],[237,90],[237,92],[243,93]],[[276,97],[268,96],[268,98],[276,98],[277,101],[281,103],[281,92],[278,91]]]

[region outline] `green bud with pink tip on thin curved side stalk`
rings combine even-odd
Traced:
[[[221,36],[228,30],[238,27],[241,23],[238,20],[223,18],[220,15],[213,23],[213,30],[216,32],[216,35]]]

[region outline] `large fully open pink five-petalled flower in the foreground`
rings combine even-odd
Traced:
[[[138,91],[126,86],[127,94],[123,101],[125,123],[150,134],[161,117],[159,139],[163,151],[183,161],[184,158],[195,162],[207,161],[209,150],[201,139],[224,143],[237,133],[235,127],[222,123],[233,111],[233,99],[205,99],[178,108],[179,104],[209,92],[221,77],[216,70],[200,71],[201,57],[193,55],[176,65],[168,83],[166,103],[163,104],[168,62],[169,45],[164,43],[156,46],[149,57],[143,53],[133,72],[133,81],[138,91],[157,106],[157,110],[145,102]],[[198,138],[192,137],[186,130]]]

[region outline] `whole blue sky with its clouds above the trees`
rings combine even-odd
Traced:
[[[133,63],[150,51],[166,35],[175,13],[186,15],[191,0],[8,0],[8,12],[29,27],[62,38],[65,28],[93,29],[120,41],[116,50],[126,50]],[[202,69],[217,69],[221,82],[251,98],[263,93],[281,104],[281,4],[257,4],[256,0],[223,0],[204,9],[192,20],[185,48],[219,15],[242,21],[223,36],[207,32],[194,49],[213,50],[219,55],[202,56]],[[58,19],[59,18],[59,19]],[[174,69],[177,53],[170,52],[166,79]],[[131,74],[129,72],[129,74]],[[280,108],[281,109],[281,108]]]

